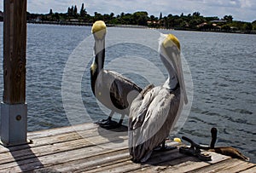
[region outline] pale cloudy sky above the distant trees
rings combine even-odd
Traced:
[[[3,11],[3,2],[0,10]],[[47,14],[49,9],[53,12],[66,13],[67,8],[77,5],[78,11],[84,3],[86,11],[90,15],[94,12],[100,14],[115,15],[147,11],[148,15],[163,16],[168,14],[193,14],[198,11],[201,15],[218,16],[232,15],[234,20],[252,22],[256,20],[255,0],[27,0],[27,11],[30,13]]]

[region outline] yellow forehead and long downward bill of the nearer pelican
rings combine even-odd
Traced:
[[[183,78],[183,67],[180,55],[180,43],[172,34],[165,35],[165,39],[162,42],[162,47],[166,50],[166,54],[171,58],[171,64],[174,67],[175,71],[177,72],[177,79],[180,84],[181,92],[183,93],[183,98],[185,104],[188,103],[188,97],[185,89],[185,83]]]

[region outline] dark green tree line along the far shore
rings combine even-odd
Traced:
[[[239,30],[251,31],[256,30],[256,20],[251,22],[234,20],[232,15],[224,15],[219,19],[218,16],[204,17],[200,12],[193,14],[168,14],[163,16],[149,15],[146,11],[138,11],[135,13],[121,13],[121,14],[100,14],[95,12],[94,15],[87,13],[84,3],[81,9],[76,5],[67,8],[67,13],[53,12],[49,10],[49,14],[30,14],[27,13],[27,20],[41,20],[41,21],[79,21],[85,23],[93,23],[96,20],[104,20],[107,24],[112,25],[137,25],[148,26],[167,29],[188,29],[188,30]]]

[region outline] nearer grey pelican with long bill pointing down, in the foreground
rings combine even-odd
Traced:
[[[143,89],[131,103],[129,152],[134,162],[145,162],[155,147],[165,147],[169,135],[188,99],[184,88],[180,43],[172,34],[160,37],[160,59],[166,66],[166,83]]]

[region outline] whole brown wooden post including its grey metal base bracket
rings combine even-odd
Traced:
[[[1,144],[27,143],[26,131],[26,0],[4,0]]]

